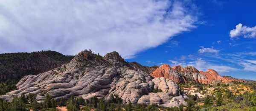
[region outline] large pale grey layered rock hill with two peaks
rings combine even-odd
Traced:
[[[17,83],[18,90],[0,96],[3,100],[21,94],[34,93],[38,100],[44,100],[48,93],[56,100],[67,99],[71,95],[90,99],[94,96],[108,99],[117,94],[124,103],[157,103],[159,105],[178,106],[170,101],[181,95],[175,82],[165,78],[153,78],[145,71],[131,67],[117,53],[112,52],[104,57],[84,50],[69,64],[52,69],[39,75],[27,75]],[[149,102],[148,96],[154,100],[153,90],[161,89],[159,101]],[[180,100],[186,104],[184,100]],[[163,103],[164,102],[164,103]]]

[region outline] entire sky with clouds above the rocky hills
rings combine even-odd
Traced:
[[[0,0],[0,53],[117,51],[256,80],[255,0]]]

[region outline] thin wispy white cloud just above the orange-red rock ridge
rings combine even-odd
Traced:
[[[240,70],[240,69],[236,69],[236,68],[229,67],[229,66],[212,64],[207,61],[204,61],[202,58],[198,58],[197,61],[190,62],[190,64],[188,66],[195,67],[201,71],[207,71],[207,69],[214,69],[218,73]]]

